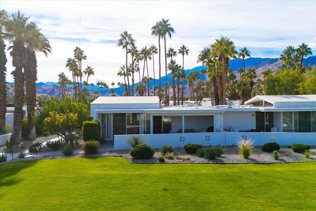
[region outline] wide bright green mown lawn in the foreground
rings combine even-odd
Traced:
[[[0,165],[0,210],[316,210],[316,163],[130,164],[73,158]]]

